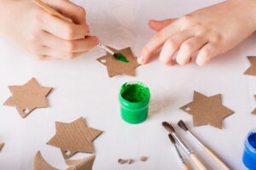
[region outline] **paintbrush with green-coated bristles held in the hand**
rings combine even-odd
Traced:
[[[73,20],[67,18],[63,14],[59,13],[58,11],[55,10],[55,8],[50,7],[47,3],[44,3],[41,0],[33,0],[34,3],[36,3],[39,7],[43,8],[44,11],[47,13],[60,18],[61,20],[65,20],[69,23],[73,23]],[[90,35],[85,35],[84,38],[89,37]],[[102,42],[99,42],[97,44],[97,47],[104,49],[107,51],[109,54],[111,54],[115,59],[121,60],[125,63],[128,63],[129,61],[125,58],[124,54],[121,53],[114,53],[112,49],[108,48],[108,46],[104,45]]]

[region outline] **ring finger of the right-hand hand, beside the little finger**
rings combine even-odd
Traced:
[[[191,37],[181,45],[177,53],[177,63],[179,65],[185,65],[189,62],[189,59],[195,52],[207,43],[205,37]]]

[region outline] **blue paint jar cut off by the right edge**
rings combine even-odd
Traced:
[[[247,135],[242,161],[250,170],[256,170],[256,129]]]

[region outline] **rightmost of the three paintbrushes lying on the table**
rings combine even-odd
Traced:
[[[218,157],[216,154],[214,154],[214,153],[212,152],[212,150],[210,150],[209,148],[207,148],[206,145],[202,144],[201,141],[200,141],[199,139],[197,139],[197,138],[195,137],[195,135],[189,131],[189,128],[186,126],[186,124],[185,124],[182,120],[180,120],[179,122],[177,122],[177,125],[178,125],[179,127],[181,127],[186,133],[188,133],[189,136],[190,136],[192,139],[194,139],[195,142],[196,142],[197,144],[199,144],[199,145],[201,146],[201,148],[202,148],[203,150],[205,150],[209,156],[212,157],[212,159],[214,159],[215,161],[217,161],[217,162],[218,162],[218,165],[219,165],[220,167],[222,167],[224,170],[230,170],[230,167],[228,167],[227,165],[225,165],[225,163],[224,163],[223,161],[221,161],[221,159],[219,159],[219,157]]]

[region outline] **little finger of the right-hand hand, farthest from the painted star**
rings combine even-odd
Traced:
[[[212,58],[220,54],[219,52],[218,45],[214,42],[209,42],[201,48],[199,54],[197,54],[195,62],[200,66],[207,65]]]

